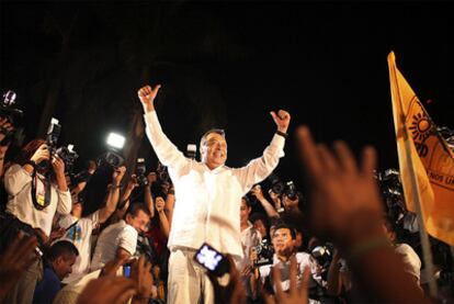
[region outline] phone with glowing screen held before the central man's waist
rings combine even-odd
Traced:
[[[195,252],[194,260],[216,277],[223,277],[230,268],[227,257],[206,243]]]

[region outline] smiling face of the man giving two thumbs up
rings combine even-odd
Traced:
[[[206,136],[204,145],[201,147],[202,161],[209,169],[223,166],[227,160],[227,142],[223,135],[211,133]]]

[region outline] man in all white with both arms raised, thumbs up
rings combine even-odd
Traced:
[[[246,167],[228,168],[227,142],[222,130],[211,130],[201,139],[202,161],[184,157],[167,138],[159,124],[154,100],[160,86],[143,87],[138,97],[145,111],[147,135],[159,160],[169,168],[175,188],[175,206],[169,236],[168,303],[214,303],[213,286],[205,271],[193,261],[206,241],[220,252],[242,257],[240,237],[241,198],[264,180],[284,156],[291,116],[271,112],[277,131],[260,158]]]

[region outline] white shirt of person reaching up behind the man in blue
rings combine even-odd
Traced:
[[[76,222],[77,224],[71,226]],[[66,229],[71,226],[60,239],[71,241],[76,246],[77,250],[79,250],[79,256],[72,266],[72,272],[63,281],[65,284],[80,279],[90,271],[91,234],[98,223],[99,211],[82,218],[77,218],[76,216],[69,214],[59,221],[59,226],[61,228]]]

